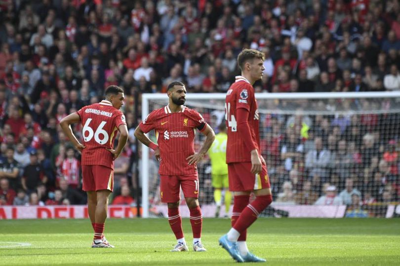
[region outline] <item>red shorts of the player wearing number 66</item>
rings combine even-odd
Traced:
[[[82,166],[83,191],[114,189],[114,170],[107,166]]]

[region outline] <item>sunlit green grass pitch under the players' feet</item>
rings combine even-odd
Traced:
[[[191,244],[188,219],[183,227]],[[170,253],[175,237],[165,218],[109,219],[114,249],[90,248],[89,220],[0,220],[0,265],[233,265],[218,245],[229,228],[228,219],[204,219],[207,252]],[[400,219],[260,218],[247,243],[268,265],[400,265]]]

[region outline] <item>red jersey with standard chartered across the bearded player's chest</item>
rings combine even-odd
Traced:
[[[156,131],[160,147],[162,175],[190,175],[197,173],[196,165],[188,165],[189,156],[195,153],[195,129],[206,128],[203,117],[195,110],[182,105],[182,110],[172,113],[169,106],[151,112],[139,124],[144,133]]]

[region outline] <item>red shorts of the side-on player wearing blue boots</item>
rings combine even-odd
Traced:
[[[259,174],[252,174],[250,170],[250,162],[229,163],[229,190],[251,191],[271,187],[266,165],[262,165],[262,170]]]

